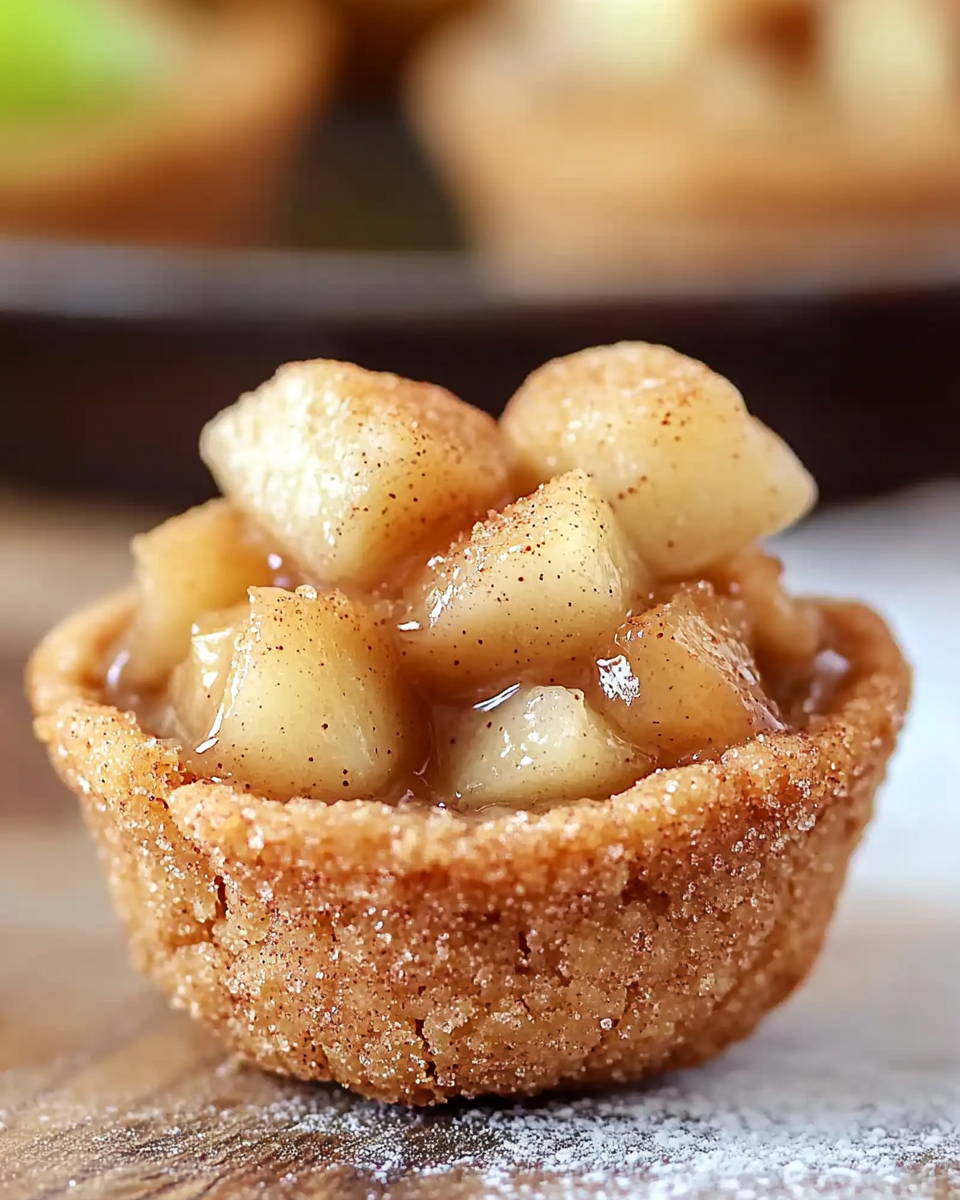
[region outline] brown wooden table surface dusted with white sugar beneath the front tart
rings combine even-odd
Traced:
[[[778,1025],[775,1018],[769,1033],[764,1030],[752,1048],[748,1044],[746,1057],[734,1051],[713,1074],[713,1068],[689,1073],[691,1085],[654,1085],[595,1103],[560,1098],[409,1114],[356,1100],[337,1087],[293,1084],[227,1061],[216,1043],[182,1014],[170,1013],[127,967],[94,852],[72,798],[32,742],[22,696],[26,647],[61,611],[124,577],[126,539],[145,521],[138,514],[24,505],[0,494],[5,1200],[960,1196],[954,1120],[960,1117],[960,1075],[943,1076],[947,1098],[936,1100],[941,1106],[931,1108],[932,1116],[919,1112],[922,1129],[907,1130],[908,1136],[887,1129],[884,1141],[870,1122],[882,1121],[884,1103],[895,1108],[898,1088],[910,1093],[904,1105],[924,1109],[926,1076],[904,1076],[886,1094],[886,1076],[874,1084],[864,1074],[872,1055],[866,1040],[862,1058],[824,1091],[823,1060],[811,1058],[805,1067],[805,1050],[796,1043],[797,1030],[803,1034],[804,1028],[840,1043],[872,1037],[872,1018],[864,1021],[858,1012],[864,1009],[876,1016],[872,1044],[886,1044],[884,1031],[893,1026],[883,1022],[901,1020],[898,979],[906,973],[919,989],[912,1008],[904,1009],[918,1031],[919,1040],[911,1040],[914,1066],[938,1061],[950,1040],[960,1045],[960,1022],[949,1002],[952,995],[960,1003],[953,990],[960,977],[950,966],[960,952],[960,924],[955,912],[944,916],[929,906],[920,912],[898,901],[857,908],[836,935],[817,986],[792,1010],[792,1025]],[[898,941],[898,930],[908,932]],[[890,973],[894,943],[906,947],[899,974]],[[838,996],[844,997],[839,1007]],[[707,1108],[718,1096],[730,1097],[748,1114],[737,1116],[740,1128],[755,1120],[748,1093],[761,1051],[774,1075],[788,1079],[793,1073],[798,1082],[796,1097],[784,1100],[778,1092],[770,1100],[769,1111],[781,1116],[768,1112],[758,1128],[773,1128],[770,1121],[787,1128],[798,1105],[833,1104],[840,1111],[848,1104],[848,1114],[835,1117],[839,1134],[830,1133],[829,1122],[823,1126],[823,1136],[833,1139],[829,1147],[817,1135],[820,1158],[808,1163],[806,1175],[803,1148],[791,1148],[793,1134],[786,1142],[778,1135],[784,1148],[769,1169],[761,1151],[752,1165],[742,1157],[728,1169],[725,1160],[710,1158],[731,1118],[714,1120]],[[874,1110],[881,1115],[871,1116]],[[816,1120],[823,1124],[827,1118]],[[852,1150],[844,1150],[847,1123]],[[876,1170],[863,1166],[868,1142],[880,1147]],[[763,1136],[754,1144],[762,1146]],[[671,1156],[682,1159],[679,1174],[670,1174]],[[826,1174],[821,1159],[829,1165]]]

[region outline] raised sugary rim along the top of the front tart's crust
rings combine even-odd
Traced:
[[[556,886],[560,850],[569,858],[574,848],[629,844],[655,860],[716,821],[815,812],[840,803],[854,780],[886,762],[910,696],[910,668],[881,618],[858,604],[822,602],[852,670],[833,709],[802,732],[767,734],[716,763],[660,770],[608,800],[535,815],[482,820],[419,804],[280,803],[235,785],[193,781],[172,743],[102,702],[101,665],[133,606],[128,593],[96,604],[58,626],[31,660],[36,733],[61,778],[73,791],[162,799],[185,833],[238,862],[323,864],[334,877],[358,868],[395,875],[443,868],[464,880],[496,872]]]

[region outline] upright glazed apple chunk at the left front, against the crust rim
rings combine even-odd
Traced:
[[[394,781],[421,766],[421,725],[390,631],[342,594],[251,588],[235,635],[197,636],[208,641],[182,668],[184,691],[208,652],[214,682],[224,684],[206,731],[208,704],[178,710],[185,738],[204,739],[186,748],[198,774],[278,799],[332,802],[389,799]]]

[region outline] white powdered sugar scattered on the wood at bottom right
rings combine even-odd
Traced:
[[[749,1056],[721,1070],[649,1092],[469,1109],[439,1122],[415,1160],[409,1121],[353,1109],[334,1122],[354,1142],[349,1160],[383,1183],[407,1171],[469,1166],[496,1195],[523,1195],[517,1176],[595,1183],[644,1196],[936,1195],[960,1188],[960,1088],[923,1074],[864,1073],[846,1086],[803,1049],[786,1052],[770,1078]],[[884,1090],[895,1088],[894,1096]],[[877,1099],[869,1098],[874,1092]],[[331,1132],[326,1114],[304,1115],[301,1130]],[[430,1150],[452,1145],[449,1158]]]

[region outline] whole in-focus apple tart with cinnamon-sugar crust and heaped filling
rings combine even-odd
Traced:
[[[224,498],[29,668],[174,1004],[433,1104],[701,1062],[804,978],[910,674],[785,592],[815,486],[732,384],[601,347],[497,422],[290,364],[202,452]]]

